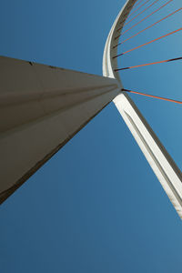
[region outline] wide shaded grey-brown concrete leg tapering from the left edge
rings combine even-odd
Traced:
[[[116,97],[116,79],[0,57],[0,202]]]

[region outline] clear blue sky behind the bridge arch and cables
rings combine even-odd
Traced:
[[[0,54],[102,75],[106,36],[124,3],[1,1]],[[180,5],[174,0],[126,37]],[[178,13],[121,52],[180,22]],[[120,57],[119,66],[181,56],[181,41],[181,33],[171,35]],[[181,67],[179,61],[126,70],[121,78],[126,88],[182,100]],[[182,107],[132,98],[181,168]],[[2,273],[182,272],[181,220],[113,103],[5,201],[0,221]]]

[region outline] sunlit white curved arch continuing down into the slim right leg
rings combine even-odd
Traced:
[[[113,59],[113,56],[117,55],[117,49],[113,49],[113,46],[116,45],[116,35],[119,35],[117,29],[120,28],[120,32],[122,31],[126,16],[135,2],[136,0],[127,0],[120,13],[117,15],[116,21],[112,25],[107,37],[103,57],[103,75],[116,78],[120,83],[121,89],[122,83],[120,76],[115,71],[115,68],[117,68],[116,58]],[[123,23],[120,24],[120,22]],[[150,167],[152,167],[159,182],[165,189],[167,196],[176,208],[179,217],[182,218],[181,171],[126,92],[122,92],[116,96],[114,103],[117,110],[124,118],[126,126],[128,126],[132,135],[135,137],[138,146],[147,158]]]

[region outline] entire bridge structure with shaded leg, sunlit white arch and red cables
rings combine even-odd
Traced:
[[[155,5],[156,2],[151,5]],[[170,5],[171,2],[172,0],[167,1],[164,5]],[[177,209],[179,217],[182,217],[181,172],[128,96],[129,92],[140,95],[141,92],[124,88],[122,76],[120,77],[119,74],[122,70],[138,66],[175,62],[181,57],[172,56],[171,59],[158,60],[151,64],[117,66],[117,59],[120,56],[181,30],[181,28],[175,29],[167,35],[120,53],[120,45],[125,42],[118,40],[124,34],[123,27],[134,20],[138,13],[144,13],[151,6],[145,7],[146,5],[147,1],[128,0],[117,15],[106,40],[103,76],[1,57],[1,203],[113,101],[167,192],[167,196]],[[144,9],[141,11],[140,8]],[[166,20],[168,16],[175,15],[180,10],[173,11],[153,25],[160,24],[162,20]],[[144,19],[145,17],[142,20]],[[177,102],[170,98],[163,99]]]

